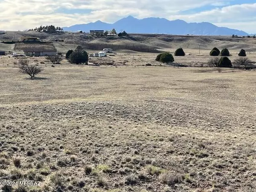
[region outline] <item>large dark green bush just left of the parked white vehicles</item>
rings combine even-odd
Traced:
[[[88,54],[81,46],[78,46],[69,56],[70,63],[73,64],[88,64]]]

